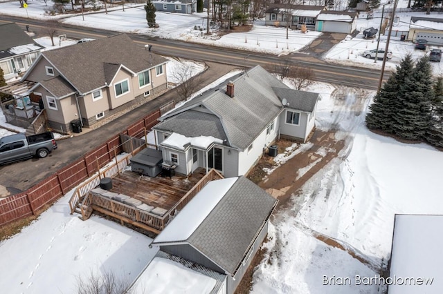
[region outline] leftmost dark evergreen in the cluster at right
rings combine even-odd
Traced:
[[[383,85],[380,92],[374,97],[374,103],[370,106],[370,112],[366,115],[366,126],[373,130],[381,130],[385,133],[393,133],[392,126],[395,121],[392,115],[397,112],[397,101],[401,96],[400,86],[404,84],[406,77],[413,72],[413,60],[406,55],[401,60],[397,70]]]

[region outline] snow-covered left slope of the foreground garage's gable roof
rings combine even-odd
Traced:
[[[206,184],[192,198],[192,205],[190,203],[186,205],[177,217],[174,217],[174,222],[166,226],[161,234],[154,239],[154,243],[179,242],[188,239],[237,179],[237,177],[230,177]]]

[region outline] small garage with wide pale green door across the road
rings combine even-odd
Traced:
[[[351,34],[356,30],[356,16],[357,12],[320,11],[316,20],[316,31]]]

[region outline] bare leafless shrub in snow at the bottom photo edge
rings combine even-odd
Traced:
[[[102,275],[91,271],[87,277],[77,277],[78,294],[131,294],[129,289],[131,282],[124,278],[119,278],[112,271],[105,271]]]

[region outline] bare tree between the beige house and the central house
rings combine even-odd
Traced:
[[[181,100],[186,100],[199,89],[201,76],[195,76],[195,68],[186,64],[181,64],[172,73],[172,79],[177,83],[175,90]]]

